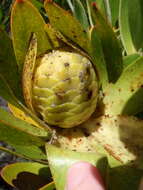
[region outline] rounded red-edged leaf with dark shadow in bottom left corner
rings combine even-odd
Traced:
[[[20,190],[37,190],[51,181],[49,168],[34,162],[10,164],[2,169],[1,176]]]

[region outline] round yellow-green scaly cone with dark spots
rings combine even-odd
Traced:
[[[98,82],[91,62],[80,54],[53,51],[37,60],[33,107],[51,125],[70,128],[94,112]]]

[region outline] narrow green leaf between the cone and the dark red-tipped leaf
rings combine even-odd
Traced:
[[[108,83],[108,73],[104,60],[101,40],[98,33],[96,32],[96,28],[93,28],[91,31],[91,50],[91,58],[93,59],[93,64],[95,65],[100,82],[102,84],[102,88],[104,89]]]

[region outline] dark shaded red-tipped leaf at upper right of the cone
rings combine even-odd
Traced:
[[[99,9],[95,5],[91,9],[93,19],[96,23],[96,32],[101,39],[103,47],[109,82],[114,83],[122,73],[122,51],[114,31],[102,16]]]

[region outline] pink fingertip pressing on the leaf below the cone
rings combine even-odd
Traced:
[[[99,170],[88,162],[77,162],[67,173],[66,190],[105,190]]]

